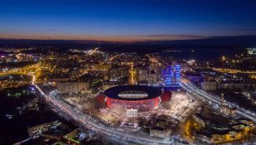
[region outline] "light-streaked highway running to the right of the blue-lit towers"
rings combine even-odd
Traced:
[[[208,94],[207,92],[203,91],[202,89],[198,89],[195,85],[193,85],[189,80],[183,79],[181,82],[181,87],[188,91],[191,94],[195,94],[196,97],[200,99],[204,99],[205,101],[209,101],[211,104],[220,106],[221,99],[218,96],[214,96],[213,94]],[[237,114],[239,116],[242,116],[244,118],[248,118],[252,120],[254,123],[256,123],[256,115],[248,110],[241,109],[238,105],[225,102],[228,104],[228,106],[235,108],[237,111]]]

